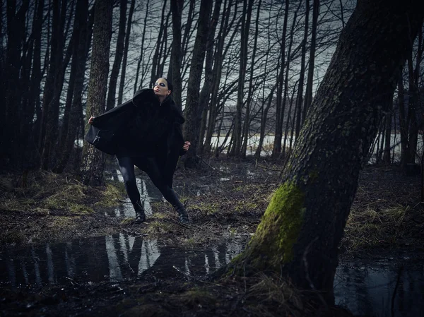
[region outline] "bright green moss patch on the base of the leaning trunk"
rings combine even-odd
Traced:
[[[293,260],[293,245],[304,219],[304,197],[304,193],[290,182],[282,184],[273,194],[247,249],[246,256],[251,258],[254,267],[279,268],[281,263]],[[264,255],[269,263],[264,263]]]

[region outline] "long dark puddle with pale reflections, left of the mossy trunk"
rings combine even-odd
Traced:
[[[172,249],[158,241],[115,234],[0,253],[0,285],[119,282],[142,277],[206,275],[242,251],[237,242],[208,251]]]

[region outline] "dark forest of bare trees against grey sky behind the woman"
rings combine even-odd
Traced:
[[[1,167],[84,169],[92,162],[83,153],[88,118],[158,76],[174,83],[187,119],[192,148],[184,160],[285,160],[355,5],[0,0]],[[104,26],[97,33],[96,23]],[[389,100],[373,162],[406,166],[423,156],[423,32]]]

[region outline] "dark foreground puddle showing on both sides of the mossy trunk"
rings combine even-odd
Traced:
[[[208,250],[186,250],[121,233],[8,249],[0,253],[0,286],[204,276],[228,264],[243,248],[241,241],[232,240]],[[394,296],[401,263],[404,268]],[[423,316],[423,264],[408,265],[407,259],[366,265],[345,261],[336,270],[334,294],[336,304],[355,315]]]

